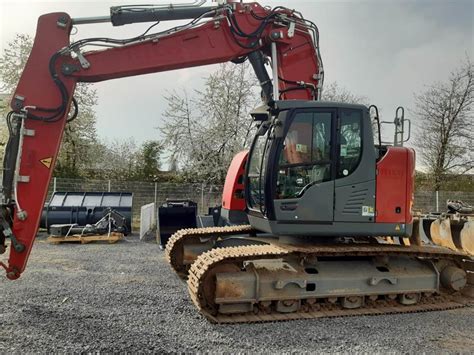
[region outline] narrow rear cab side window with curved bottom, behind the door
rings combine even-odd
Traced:
[[[338,178],[350,175],[357,168],[362,147],[361,111],[341,110],[340,120]]]

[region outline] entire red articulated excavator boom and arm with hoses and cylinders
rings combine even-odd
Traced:
[[[98,37],[70,42],[73,25],[176,19],[192,21],[125,40]],[[323,76],[317,37],[314,24],[298,13],[282,7],[269,10],[258,3],[231,2],[210,8],[122,6],[112,8],[111,16],[86,19],[73,19],[66,13],[41,16],[7,118],[11,137],[4,161],[0,218],[0,251],[6,250],[5,238],[12,246],[8,263],[0,264],[7,277],[16,279],[25,269],[72,104],[77,114],[73,100],[77,82],[248,58],[265,101],[314,100]],[[100,50],[85,51],[96,46]],[[277,78],[273,87],[264,67],[266,57],[271,58]]]

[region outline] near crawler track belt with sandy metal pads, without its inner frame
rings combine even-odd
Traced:
[[[319,257],[409,256],[413,258],[449,259],[459,264],[462,264],[466,258],[465,255],[439,247],[404,247],[384,244],[322,245],[310,247],[272,244],[217,248],[200,255],[192,264],[188,277],[188,289],[191,299],[205,317],[216,323],[284,321],[321,317],[426,312],[464,307],[472,302],[472,298],[455,293],[423,295],[420,302],[409,306],[401,305],[396,301],[377,299],[375,301],[368,301],[363,307],[357,309],[342,309],[339,305],[330,303],[305,303],[304,307],[293,313],[278,313],[271,309],[257,310],[256,308],[256,311],[252,313],[224,315],[217,312],[217,306],[212,301],[213,297],[206,297],[206,294],[209,294],[209,291],[205,289],[209,287],[209,280],[206,278],[211,278],[212,271],[216,270],[216,268],[224,265],[240,265],[243,261],[249,260],[282,258],[290,256],[290,254],[297,254],[299,256],[308,254]]]

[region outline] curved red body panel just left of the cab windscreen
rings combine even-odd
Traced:
[[[249,152],[237,153],[230,163],[222,193],[222,207],[226,210],[245,210],[244,173]]]

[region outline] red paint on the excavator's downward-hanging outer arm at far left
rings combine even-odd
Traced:
[[[41,16],[38,20],[33,49],[15,91],[15,95],[25,98],[25,106],[57,107],[61,102],[59,91],[51,80],[48,70],[50,57],[59,48],[69,44],[71,24],[69,21],[66,28],[58,27],[56,21],[60,16],[70,19],[65,13],[53,13]],[[71,78],[63,78],[63,80],[67,90],[73,92],[76,80]],[[32,109],[30,111],[41,115]],[[52,123],[25,121],[25,128],[35,131],[34,137],[24,137],[20,164],[20,175],[29,176],[30,182],[18,183],[18,202],[28,217],[26,220],[20,221],[15,216],[13,234],[26,248],[22,253],[17,253],[13,248],[10,248],[7,268],[9,278],[17,278],[25,269],[33,240],[38,231],[64,126],[64,117]],[[53,158],[50,169],[40,162],[41,159],[49,157]]]

